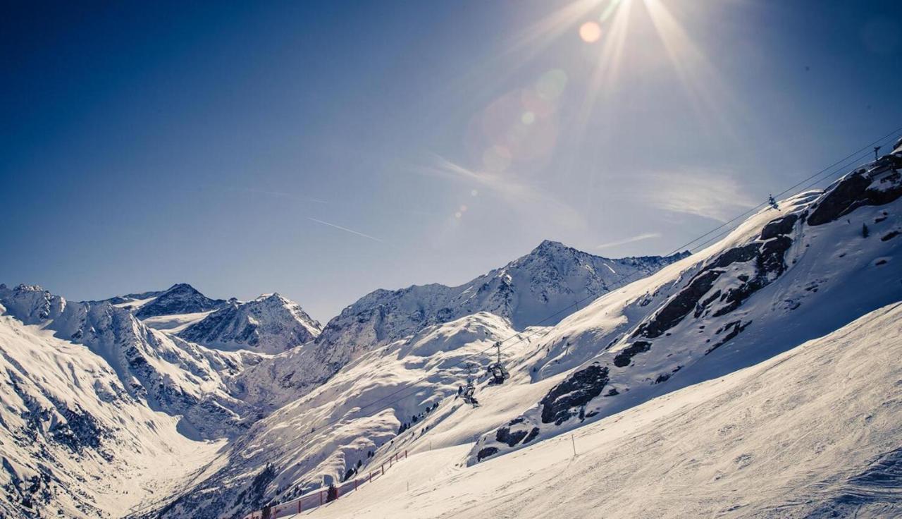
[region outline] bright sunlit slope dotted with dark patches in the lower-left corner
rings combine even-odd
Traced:
[[[39,306],[32,320],[49,319]],[[122,516],[169,494],[221,446],[179,434],[179,418],[153,412],[105,358],[5,310],[0,516]]]

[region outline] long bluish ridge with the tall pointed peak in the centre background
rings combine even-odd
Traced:
[[[686,255],[608,259],[545,241],[529,255],[457,287],[415,285],[367,294],[329,320],[313,344],[263,361],[240,375],[236,384],[248,402],[278,407],[323,384],[365,352],[425,327],[481,311],[510,320],[518,330],[555,324],[576,310],[576,301],[611,291]]]

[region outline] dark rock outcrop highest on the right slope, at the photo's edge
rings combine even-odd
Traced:
[[[861,206],[880,206],[902,196],[899,173],[893,173],[884,182],[890,182],[888,189],[870,190],[872,180],[862,170],[842,179],[833,190],[817,204],[808,217],[808,225],[819,226],[851,213]]]

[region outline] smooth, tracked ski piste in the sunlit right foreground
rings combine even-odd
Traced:
[[[899,516],[900,319],[902,303],[889,305],[472,467],[472,444],[414,449],[385,477],[296,517]]]

